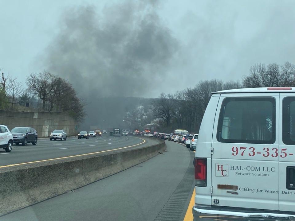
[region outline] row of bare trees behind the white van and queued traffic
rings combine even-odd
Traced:
[[[250,67],[250,74],[242,78],[242,83],[224,83],[217,79],[201,81],[173,95],[161,94],[152,101],[152,109],[160,119],[160,130],[170,132],[178,128],[198,132],[212,92],[248,87],[295,87],[295,65],[289,62],[255,64]]]

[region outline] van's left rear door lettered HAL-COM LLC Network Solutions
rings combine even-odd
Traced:
[[[278,93],[221,94],[212,139],[212,206],[278,210],[278,100]]]

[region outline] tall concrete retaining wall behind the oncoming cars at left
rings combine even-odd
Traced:
[[[77,121],[61,112],[14,112],[0,110],[0,124],[11,130],[16,126],[33,127],[39,137],[48,137],[55,129],[64,129],[68,135],[77,134]]]

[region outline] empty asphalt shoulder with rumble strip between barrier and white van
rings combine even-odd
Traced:
[[[148,161],[0,220],[183,220],[193,191],[194,152],[166,144],[167,152]]]

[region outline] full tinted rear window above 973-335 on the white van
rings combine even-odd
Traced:
[[[272,97],[228,97],[222,102],[217,140],[228,143],[273,144],[276,100]]]

